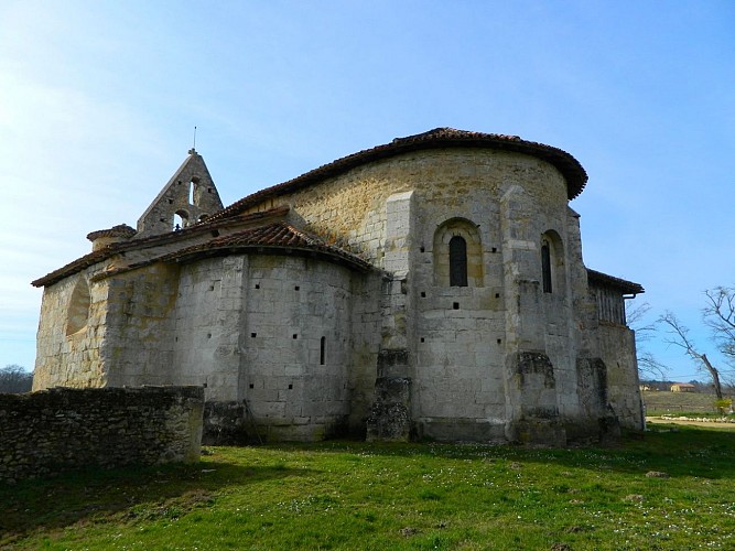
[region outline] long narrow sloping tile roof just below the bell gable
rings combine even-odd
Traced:
[[[85,255],[84,257],[79,257],[76,260],[73,260],[72,262],[58,268],[57,270],[54,270],[52,272],[46,273],[43,278],[39,278],[35,281],[32,281],[31,284],[33,287],[46,287],[46,285],[52,285],[56,283],[57,281],[61,281],[62,279],[72,276],[74,273],[77,273],[82,270],[85,270],[86,268],[89,268],[93,264],[96,264],[98,262],[102,262],[104,260],[107,260],[108,258],[112,258],[116,255],[123,253],[129,250],[136,250],[136,249],[143,249],[148,247],[155,247],[159,245],[165,245],[172,241],[177,241],[180,239],[185,239],[186,237],[193,237],[197,234],[203,234],[206,231],[210,231],[215,229],[216,227],[221,227],[223,225],[229,225],[231,224],[257,224],[263,220],[268,220],[269,218],[273,217],[282,217],[289,212],[289,207],[278,207],[278,208],[272,208],[270,210],[263,210],[261,213],[251,213],[248,215],[242,215],[234,219],[228,219],[228,220],[218,220],[218,222],[212,222],[210,219],[206,219],[204,222],[201,222],[198,224],[195,224],[193,226],[188,226],[184,229],[181,229],[179,231],[170,231],[167,234],[161,234],[161,235],[155,235],[155,236],[150,236],[150,237],[144,237],[141,239],[130,239],[128,241],[121,241],[121,242],[116,242],[108,245],[104,249],[99,249],[93,252],[89,252]],[[93,233],[94,234],[94,233]],[[91,235],[91,234],[90,234]]]

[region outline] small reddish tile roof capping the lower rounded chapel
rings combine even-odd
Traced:
[[[371,266],[361,258],[328,245],[321,238],[305,234],[284,222],[275,222],[267,226],[245,229],[237,234],[217,237],[206,242],[165,255],[158,260],[184,261],[212,253],[236,252],[256,249],[260,252],[309,252],[331,257],[360,270],[369,270]]]

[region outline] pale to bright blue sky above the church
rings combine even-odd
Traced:
[[[4,0],[0,367],[33,366],[30,281],[134,226],[194,126],[226,204],[436,127],[518,134],[585,168],[585,263],[651,320],[711,349],[702,292],[735,284],[731,0]]]

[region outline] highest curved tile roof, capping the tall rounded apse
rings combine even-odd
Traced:
[[[521,140],[518,136],[488,134],[483,132],[455,130],[453,128],[436,128],[429,132],[409,136],[407,138],[397,138],[390,143],[344,156],[329,164],[306,172],[293,180],[248,195],[247,197],[233,203],[225,209],[215,213],[210,218],[226,218],[268,198],[295,192],[296,190],[316,184],[327,177],[338,175],[356,166],[380,159],[388,159],[411,151],[437,148],[488,148],[536,156],[551,163],[564,175],[566,179],[568,197],[570,199],[573,199],[582,193],[582,190],[587,182],[587,173],[579,161],[561,149],[544,145],[543,143]]]

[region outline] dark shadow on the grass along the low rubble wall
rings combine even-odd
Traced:
[[[89,468],[53,478],[0,484],[0,549],[36,530],[75,523],[175,519],[214,504],[224,487],[309,475],[307,469],[247,466],[223,461],[196,464]]]

